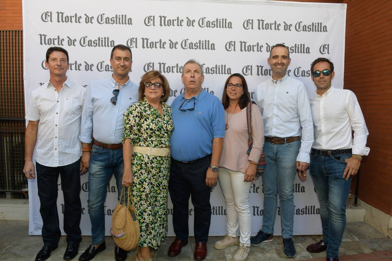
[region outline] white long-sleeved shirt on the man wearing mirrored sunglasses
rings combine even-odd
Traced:
[[[368,155],[369,132],[355,94],[331,86],[323,96],[310,98],[314,126],[314,149],[350,149],[353,154]],[[354,139],[352,131],[354,130]]]

